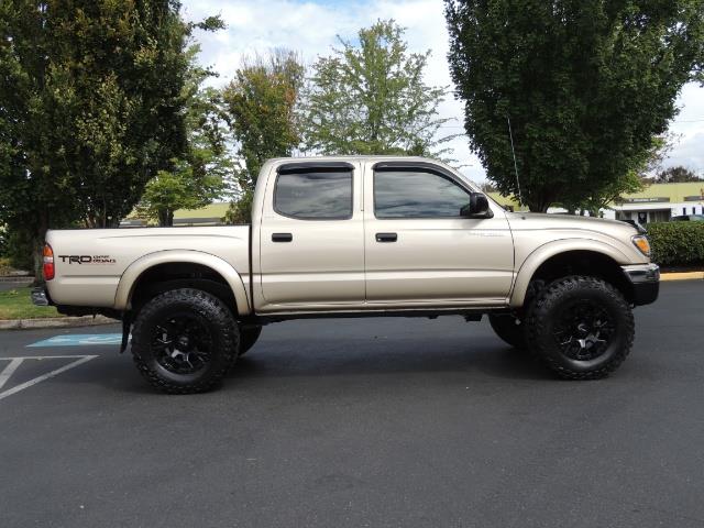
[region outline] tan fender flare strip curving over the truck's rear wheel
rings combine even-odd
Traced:
[[[164,250],[141,256],[122,273],[114,295],[114,308],[124,310],[130,304],[134,285],[144,272],[160,264],[188,263],[200,264],[218,272],[226,279],[238,304],[238,314],[250,314],[250,301],[244,280],[238,271],[219,256],[195,250]]]

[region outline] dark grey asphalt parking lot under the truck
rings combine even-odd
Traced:
[[[704,282],[636,320],[584,383],[485,321],[273,324],[196,396],[117,326],[0,332],[0,526],[704,526]]]

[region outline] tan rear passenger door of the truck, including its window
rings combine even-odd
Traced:
[[[263,311],[363,305],[360,175],[359,163],[301,162],[270,177],[258,231]]]

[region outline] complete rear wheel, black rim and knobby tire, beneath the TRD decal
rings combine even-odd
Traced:
[[[132,355],[140,373],[169,394],[213,388],[234,362],[238,344],[238,324],[228,307],[193,288],[151,299],[132,329]]]

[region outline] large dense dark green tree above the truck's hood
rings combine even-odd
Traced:
[[[627,187],[702,78],[702,0],[446,0],[450,67],[487,177],[532,211]]]

